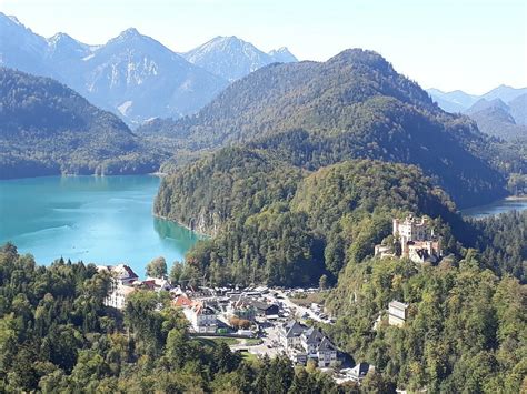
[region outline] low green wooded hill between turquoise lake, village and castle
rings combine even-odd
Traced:
[[[349,259],[361,261],[390,233],[394,215],[456,224],[454,209],[416,166],[356,160],[309,175],[239,148],[167,178],[155,204],[156,213],[215,235],[188,253],[185,275],[272,285],[336,281]]]

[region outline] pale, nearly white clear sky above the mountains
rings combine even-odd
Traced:
[[[525,0],[0,0],[0,11],[93,44],[135,27],[177,52],[216,36],[288,47],[300,60],[358,47],[424,88],[527,87]]]

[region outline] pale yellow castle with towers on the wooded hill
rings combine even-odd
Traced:
[[[400,256],[416,263],[436,263],[441,257],[439,239],[434,234],[426,218],[417,219],[408,215],[404,221],[394,219],[392,235],[400,243]],[[380,257],[395,256],[391,245],[376,245],[375,255]]]

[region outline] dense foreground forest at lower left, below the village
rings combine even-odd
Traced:
[[[245,361],[226,343],[192,339],[168,293],[135,292],[123,313],[103,306],[95,265],[0,247],[0,391],[10,393],[359,393],[290,361]],[[387,383],[369,377],[366,392]]]

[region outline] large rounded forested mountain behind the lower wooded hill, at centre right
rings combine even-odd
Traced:
[[[459,206],[504,195],[506,168],[521,161],[503,154],[468,118],[440,110],[379,54],[359,49],[325,63],[260,69],[197,115],[159,127],[186,149],[248,143],[308,170],[359,158],[416,164]]]

